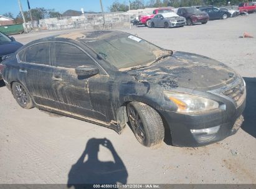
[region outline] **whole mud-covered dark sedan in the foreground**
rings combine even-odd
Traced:
[[[235,134],[243,121],[245,81],[234,70],[125,32],[35,40],[0,70],[22,108],[36,106],[118,133],[130,122],[146,146],[162,142],[164,133],[173,145],[210,144]]]

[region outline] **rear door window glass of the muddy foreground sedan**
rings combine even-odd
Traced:
[[[27,47],[26,62],[50,65],[50,44],[36,44]]]

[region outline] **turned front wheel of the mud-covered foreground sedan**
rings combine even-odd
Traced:
[[[127,115],[136,139],[147,147],[159,144],[164,139],[161,116],[150,106],[133,101],[127,106]]]

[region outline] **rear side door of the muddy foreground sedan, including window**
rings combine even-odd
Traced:
[[[36,104],[51,106],[52,66],[50,65],[50,43],[34,44],[18,54],[19,79],[26,86]]]

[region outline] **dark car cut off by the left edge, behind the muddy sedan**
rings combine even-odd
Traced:
[[[0,32],[0,63],[2,62],[2,57],[4,55],[9,55],[16,52],[17,49],[22,47],[22,44],[16,42],[14,37],[8,37],[7,35]],[[2,76],[0,74],[0,80]]]

